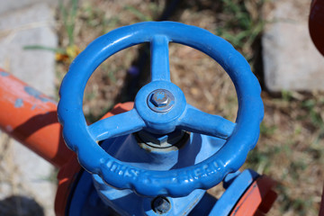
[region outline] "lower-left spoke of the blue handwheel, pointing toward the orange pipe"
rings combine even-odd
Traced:
[[[96,121],[88,127],[96,141],[117,137],[141,130],[145,122],[135,109]]]

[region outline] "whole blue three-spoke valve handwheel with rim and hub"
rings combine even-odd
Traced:
[[[139,90],[134,108],[88,126],[82,103],[86,82],[94,69],[121,49],[143,42],[151,46],[151,82]],[[226,70],[238,95],[235,123],[201,112],[185,102],[181,89],[170,82],[169,42],[199,49]],[[173,94],[172,108],[167,112],[155,112],[148,106],[148,95],[157,89]],[[67,146],[76,151],[81,166],[90,173],[100,175],[116,188],[128,188],[148,196],[178,197],[195,189],[209,189],[243,165],[248,151],[257,144],[264,115],[260,93],[260,85],[246,59],[226,40],[182,23],[137,23],[99,37],[77,56],[60,87],[58,119],[63,125]],[[107,154],[97,144],[99,140],[142,129],[168,133],[175,128],[220,137],[226,139],[226,143],[199,164],[168,171],[130,166]]]

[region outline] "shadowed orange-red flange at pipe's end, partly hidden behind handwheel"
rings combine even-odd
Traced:
[[[130,111],[134,103],[118,103],[111,112],[106,113],[102,119],[111,117],[112,115]],[[77,184],[77,176],[81,171],[81,166],[77,162],[76,155],[70,158],[66,166],[63,166],[58,172],[58,191],[55,198],[55,213],[57,216],[65,215],[68,205],[68,197],[73,193],[74,185]]]

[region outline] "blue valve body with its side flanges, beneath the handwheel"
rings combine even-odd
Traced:
[[[161,156],[160,154],[155,156],[153,154],[152,156],[145,150],[139,147],[136,148],[136,145],[133,145],[135,142],[136,140],[133,135],[128,135],[107,139],[103,142],[102,147],[113,157],[124,160],[123,162],[125,163],[131,163],[134,166],[135,164],[136,166],[143,167],[150,166],[150,169],[165,169],[199,163],[206,157],[211,157],[224,144],[223,139],[193,134],[188,140],[187,145],[179,150],[179,153],[169,152],[165,153],[168,156]],[[197,145],[198,143],[201,146]],[[116,147],[118,145],[121,147]],[[129,149],[129,151],[125,151],[125,149]],[[139,154],[130,156],[130,151],[136,151]],[[174,156],[170,157],[169,154]],[[152,159],[152,157],[156,158]],[[137,162],[132,163],[131,161]],[[220,200],[216,200],[203,190],[195,190],[188,196],[179,198],[166,197],[171,204],[171,208],[163,215],[229,215],[229,212],[238,202],[239,198],[257,176],[257,173],[252,170],[227,175],[223,181],[227,190],[222,194]],[[152,210],[154,197],[141,196],[129,189],[114,189],[105,184],[100,176],[91,176],[86,172],[81,175],[76,185],[76,190],[71,194],[71,197],[71,204],[67,210],[69,215],[110,215],[109,213],[112,210],[108,207],[111,207],[113,211],[123,216],[159,215]]]

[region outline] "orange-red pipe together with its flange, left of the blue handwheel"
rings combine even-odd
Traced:
[[[55,211],[57,215],[65,215],[68,196],[81,166],[62,138],[57,103],[1,68],[0,84],[0,129],[60,168]],[[103,118],[132,107],[132,102],[119,103]]]

